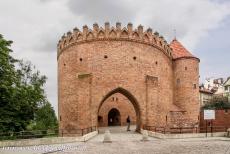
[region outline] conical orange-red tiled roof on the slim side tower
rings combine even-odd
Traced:
[[[197,58],[193,56],[177,39],[174,39],[170,43],[170,47],[173,50],[173,59],[178,58]],[[198,59],[198,58],[197,58]]]

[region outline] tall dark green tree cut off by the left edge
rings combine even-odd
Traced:
[[[10,56],[12,50],[9,47],[11,44],[12,41],[3,39],[0,34],[0,131],[14,130],[20,127],[20,124],[12,118],[15,109],[17,109],[12,97],[17,86],[14,66],[17,60]]]

